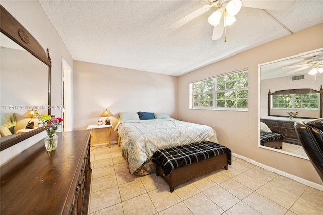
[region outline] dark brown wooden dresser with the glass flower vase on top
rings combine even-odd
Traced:
[[[90,130],[57,135],[55,151],[41,140],[0,167],[0,214],[87,214]]]

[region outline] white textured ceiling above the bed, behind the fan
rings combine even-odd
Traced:
[[[323,0],[296,0],[285,11],[242,7],[225,43],[211,40],[207,18],[215,7],[167,28],[209,1],[39,2],[74,60],[174,76],[290,34],[266,12],[293,33],[323,22]]]

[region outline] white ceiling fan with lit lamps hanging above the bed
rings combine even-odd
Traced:
[[[185,23],[209,11],[212,7],[216,7],[218,9],[209,16],[208,22],[214,26],[212,40],[218,40],[222,37],[226,26],[229,26],[236,21],[235,15],[240,11],[242,6],[281,11],[292,6],[295,1],[296,0],[211,0],[209,5],[204,5],[175,21],[168,26],[168,29],[172,30],[179,28]],[[226,42],[226,35],[224,41]]]

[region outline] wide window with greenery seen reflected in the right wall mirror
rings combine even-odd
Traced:
[[[272,96],[273,109],[318,109],[319,93],[297,93]]]

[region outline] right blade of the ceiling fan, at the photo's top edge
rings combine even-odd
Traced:
[[[242,6],[249,8],[260,8],[273,11],[282,11],[291,7],[296,0],[242,0]]]

